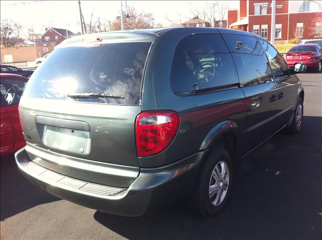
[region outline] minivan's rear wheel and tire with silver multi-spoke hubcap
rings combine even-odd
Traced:
[[[195,214],[210,217],[218,214],[227,202],[232,162],[224,148],[216,148],[204,161],[188,206]]]

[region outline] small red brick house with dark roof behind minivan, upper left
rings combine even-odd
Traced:
[[[49,28],[46,29],[46,32],[41,36],[41,40],[44,46],[56,46],[63,40],[65,40],[67,37],[69,38],[72,35],[74,34],[66,29]]]

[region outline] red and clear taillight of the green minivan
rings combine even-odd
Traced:
[[[174,111],[146,111],[136,117],[136,149],[139,157],[165,150],[175,138],[180,124]]]

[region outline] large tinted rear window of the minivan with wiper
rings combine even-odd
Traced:
[[[56,49],[32,75],[24,96],[138,105],[150,46],[151,42],[128,42]],[[122,98],[68,97],[84,93]]]

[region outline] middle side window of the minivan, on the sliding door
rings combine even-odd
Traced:
[[[223,34],[235,62],[241,86],[256,85],[272,79],[267,57],[256,38]]]

